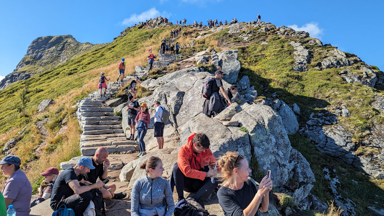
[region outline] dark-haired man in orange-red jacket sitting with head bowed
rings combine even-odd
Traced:
[[[187,144],[182,145],[177,155],[177,163],[173,167],[173,179],[178,201],[184,199],[184,191],[196,194],[195,200],[207,198],[217,187],[215,178],[216,158],[209,149],[209,139],[204,133],[189,136]],[[173,186],[172,191],[173,191]]]

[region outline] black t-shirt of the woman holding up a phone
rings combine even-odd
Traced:
[[[232,190],[222,186],[217,191],[218,203],[224,211],[225,216],[244,216],[243,210],[248,207],[255,198],[257,189],[250,179],[244,182],[242,189]],[[261,203],[259,208],[261,207]],[[256,212],[255,216],[258,213]]]

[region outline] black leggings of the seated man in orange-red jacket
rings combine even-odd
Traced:
[[[208,166],[205,166],[202,171],[208,171]],[[218,185],[217,178],[205,178],[200,180],[197,178],[188,178],[179,169],[177,163],[173,166],[173,178],[175,180],[177,196],[184,199],[184,191],[196,194],[192,197],[195,200],[208,198],[209,194],[214,191]]]

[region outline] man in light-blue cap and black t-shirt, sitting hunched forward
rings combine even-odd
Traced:
[[[95,167],[91,158],[82,157],[73,168],[65,169],[56,179],[51,194],[51,208],[56,211],[62,204],[74,210],[76,216],[82,216],[89,202],[95,204],[96,215],[101,214],[103,194],[98,188],[104,186],[102,181],[85,185],[83,175]]]

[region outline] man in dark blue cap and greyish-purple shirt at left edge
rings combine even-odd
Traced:
[[[10,176],[5,181],[2,194],[7,208],[12,204],[17,216],[29,216],[32,187],[25,173],[20,170],[20,163],[20,158],[14,155],[5,156],[0,162],[3,174]]]

